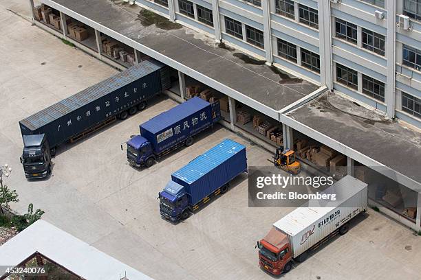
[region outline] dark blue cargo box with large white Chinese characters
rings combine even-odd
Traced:
[[[140,135],[151,141],[155,153],[171,148],[219,120],[213,104],[193,97],[140,125]]]

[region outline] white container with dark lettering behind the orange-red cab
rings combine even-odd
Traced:
[[[288,236],[292,257],[298,257],[367,209],[367,184],[352,176],[345,176],[321,193],[336,194],[336,200],[310,200],[273,224]]]

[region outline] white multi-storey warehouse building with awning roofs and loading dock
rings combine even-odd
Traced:
[[[29,1],[36,25],[115,67],[169,65],[180,102],[208,88],[268,149],[345,158],[371,205],[421,228],[420,0]]]

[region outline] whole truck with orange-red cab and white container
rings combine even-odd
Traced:
[[[347,233],[349,220],[367,209],[367,184],[345,176],[323,191],[336,200],[310,200],[275,222],[257,242],[259,265],[274,275],[288,272],[292,259],[304,261],[327,238]],[[332,197],[332,196],[330,196]]]

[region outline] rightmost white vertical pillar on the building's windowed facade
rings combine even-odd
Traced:
[[[387,0],[387,37],[386,37],[386,113],[395,117],[395,72],[396,72],[396,1]],[[391,16],[393,15],[393,16]]]

